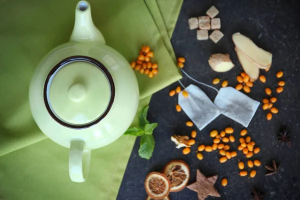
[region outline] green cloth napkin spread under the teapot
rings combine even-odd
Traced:
[[[169,11],[163,4],[173,1],[176,6],[169,8],[175,11]],[[135,137],[124,135],[108,146],[92,150],[89,177],[84,183],[73,183],[68,177],[68,149],[45,139],[29,111],[31,75],[47,51],[68,40],[76,2],[1,3],[0,180],[5,184],[1,184],[0,196],[4,199],[116,198]],[[181,77],[166,37],[170,33],[163,31],[172,32],[182,0],[159,0],[160,6],[148,1],[145,4],[143,0],[90,0],[89,3],[93,21],[106,43],[127,60],[136,58],[141,45],[150,45],[154,51],[158,75],[149,79],[137,73],[141,109],[148,104],[150,94]],[[161,6],[166,10],[161,10]],[[164,11],[170,17],[163,18]],[[164,28],[158,15],[162,16]],[[168,22],[170,19],[172,22]],[[135,119],[133,124],[136,122]]]

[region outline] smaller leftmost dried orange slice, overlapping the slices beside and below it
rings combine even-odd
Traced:
[[[162,173],[149,173],[144,184],[147,194],[153,199],[163,199],[170,193],[170,181]]]

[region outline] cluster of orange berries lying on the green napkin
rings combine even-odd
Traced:
[[[150,58],[154,56],[153,52],[150,51],[149,46],[141,46],[141,50],[138,53],[137,60],[132,61],[130,63],[130,66],[138,70],[139,73],[144,73],[148,75],[149,78],[153,77],[153,75],[156,75],[158,73],[158,64],[157,63],[151,63]]]

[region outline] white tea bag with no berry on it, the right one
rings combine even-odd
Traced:
[[[222,114],[248,127],[259,102],[233,87],[223,87],[216,95],[214,104]]]

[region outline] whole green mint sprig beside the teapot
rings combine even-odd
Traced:
[[[147,120],[149,106],[144,107],[138,116],[138,126],[128,128],[125,135],[140,136],[138,154],[140,157],[150,159],[154,149],[153,130],[157,123],[149,123]]]

